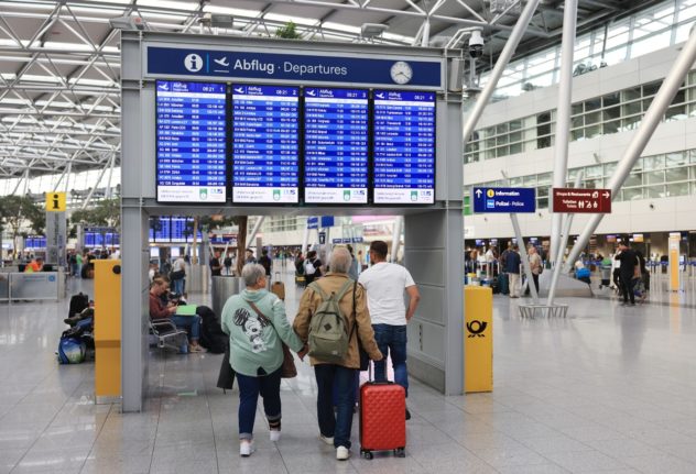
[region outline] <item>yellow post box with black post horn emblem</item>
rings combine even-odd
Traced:
[[[464,392],[493,390],[493,290],[464,287]]]

